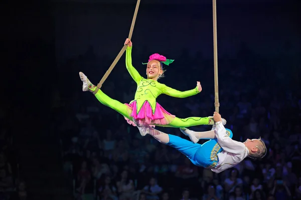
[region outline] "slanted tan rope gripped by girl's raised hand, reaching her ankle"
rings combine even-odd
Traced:
[[[128,34],[128,39],[131,39],[132,35],[133,35],[133,30],[134,30],[134,26],[135,26],[135,21],[137,18],[137,13],[138,13],[138,9],[139,9],[139,5],[140,5],[140,0],[137,0],[137,4],[136,4],[136,8],[135,8],[135,12],[134,12],[134,16],[133,16],[133,20],[132,20],[132,24],[130,26],[130,30],[129,30],[129,34]],[[109,74],[111,73],[111,71],[113,70],[113,68],[115,67],[115,65],[117,64],[117,62],[119,61],[119,59],[121,58],[121,56],[123,55],[125,49],[126,49],[126,45],[124,45],[121,49],[121,51],[119,52],[119,54],[116,56],[115,60],[113,61],[113,63],[111,64],[111,66],[109,67],[109,69],[106,71],[106,73],[103,75],[102,79],[100,80],[100,82],[97,84],[97,87],[100,89],[102,84],[104,83],[104,81],[108,78]]]

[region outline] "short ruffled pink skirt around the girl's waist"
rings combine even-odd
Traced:
[[[167,112],[158,102],[156,102],[155,113],[153,114],[152,106],[145,101],[137,113],[137,103],[133,101],[131,104],[125,103],[129,109],[131,109],[131,117],[135,119],[138,124],[148,124],[155,127],[155,125],[166,125],[169,124],[176,116]],[[124,117],[127,123],[136,126],[133,121]]]

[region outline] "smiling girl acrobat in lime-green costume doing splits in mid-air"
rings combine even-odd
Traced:
[[[127,122],[133,126],[136,126],[133,120],[137,124],[175,128],[214,124],[212,117],[188,117],[185,119],[178,118],[166,111],[156,101],[157,97],[161,94],[166,94],[177,98],[185,98],[196,95],[202,91],[200,82],[197,82],[197,86],[194,89],[184,92],[159,83],[157,80],[164,74],[163,64],[169,65],[174,61],[166,59],[166,57],[159,54],[153,54],[149,57],[148,63],[146,63],[147,78],[145,79],[141,77],[137,70],[132,66],[131,41],[126,39],[124,45],[128,45],[125,56],[126,69],[133,80],[137,83],[137,90],[134,100],[132,100],[129,104],[123,104],[117,100],[111,99],[99,88],[93,85],[87,76],[80,72],[79,75],[83,82],[83,91],[92,92],[98,101],[100,101],[100,103],[122,114]]]

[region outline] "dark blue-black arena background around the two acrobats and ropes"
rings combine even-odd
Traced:
[[[298,199],[300,4],[234,0],[217,4],[220,113],[228,121],[227,128],[233,130],[234,139],[243,141],[261,136],[270,149],[262,160],[246,161],[236,167],[238,177],[243,180],[243,196],[250,198],[253,177],[258,177],[265,196],[262,199],[272,194],[282,195],[276,199]],[[173,149],[164,150],[165,147],[148,136],[136,136],[136,128],[91,94],[81,91],[78,72],[83,71],[94,84],[101,79],[128,35],[134,7],[135,1],[4,4],[0,147],[1,155],[7,159],[1,161],[1,169],[6,170],[1,181],[13,182],[1,187],[3,199],[20,199],[18,196],[24,190],[20,187],[22,181],[25,181],[27,199],[80,198],[82,195],[76,188],[82,182],[77,174],[82,160],[92,159],[87,157],[87,152],[96,156],[102,166],[108,166],[106,173],[114,184],[122,170],[127,169],[129,178],[136,182],[135,190],[141,190],[154,176],[170,199],[180,199],[186,188],[191,199],[207,199],[207,184],[211,182],[223,188],[219,190],[223,193],[219,199],[231,199],[225,180],[231,176],[232,169],[213,175],[205,169],[185,165],[193,168],[191,179],[185,178],[180,170],[185,164],[182,155],[176,159],[178,154]],[[158,102],[166,110],[183,118],[212,115],[211,1],[142,0],[132,42],[133,65],[141,75],[145,73],[141,62],[159,53],[175,59],[160,82],[184,91],[201,81],[203,91],[196,96],[187,99],[160,96]],[[102,89],[120,102],[132,100],[135,84],[124,67],[124,57]],[[85,117],[87,120],[82,119]],[[87,121],[97,131],[97,136],[89,136],[90,141],[98,138],[99,145],[85,146],[91,132],[85,129]],[[178,129],[160,130],[180,135]],[[115,150],[104,149],[108,131],[112,132]],[[78,149],[70,156],[72,138],[78,138]],[[112,158],[118,154],[120,140],[125,145],[120,148],[130,155],[122,164]],[[153,152],[146,150],[147,142],[156,146]],[[100,156],[100,152],[104,155]],[[162,152],[175,159],[156,157]],[[275,174],[271,175],[272,179],[263,174],[264,167],[269,167],[266,163],[271,163],[274,169],[269,170]],[[95,162],[88,165],[88,170],[92,171],[94,165]],[[146,169],[138,172],[143,165]],[[97,193],[101,198],[102,191],[97,191],[103,178],[95,181],[92,178],[84,193]],[[280,179],[289,193],[284,185],[273,184],[273,180]],[[278,193],[273,192],[274,186]]]

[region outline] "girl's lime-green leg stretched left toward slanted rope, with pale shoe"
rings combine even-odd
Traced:
[[[130,107],[126,106],[123,103],[120,103],[117,100],[114,100],[110,97],[108,97],[106,94],[104,94],[99,88],[97,88],[95,85],[93,85],[89,79],[82,73],[79,73],[79,76],[83,82],[83,91],[90,91],[92,92],[95,97],[98,99],[100,103],[102,103],[105,106],[108,106],[115,111],[119,112],[124,117],[131,119],[131,109]]]

